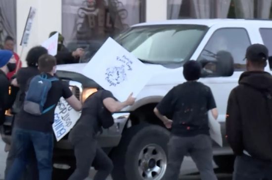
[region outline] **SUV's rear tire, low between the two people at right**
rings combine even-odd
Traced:
[[[227,173],[233,172],[233,165],[234,165],[235,156],[234,155],[220,155],[214,156],[214,162],[220,168]]]

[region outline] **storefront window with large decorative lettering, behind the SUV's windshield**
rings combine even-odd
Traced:
[[[62,0],[62,34],[68,48],[101,45],[141,22],[142,0]]]

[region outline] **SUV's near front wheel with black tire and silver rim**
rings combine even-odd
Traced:
[[[128,129],[111,154],[113,180],[160,180],[166,171],[169,136],[169,131],[160,126]],[[147,179],[147,173],[151,178]]]

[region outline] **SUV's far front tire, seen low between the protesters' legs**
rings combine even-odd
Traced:
[[[52,180],[68,180],[68,178],[74,173],[76,170],[76,162],[73,160],[65,160],[65,159],[53,159],[53,163],[57,164],[65,164],[70,168],[68,169],[59,169],[53,166],[52,172]]]

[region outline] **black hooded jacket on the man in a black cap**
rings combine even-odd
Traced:
[[[227,141],[236,155],[272,160],[272,76],[245,72],[229,95]]]

